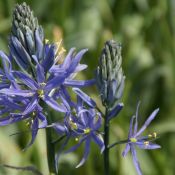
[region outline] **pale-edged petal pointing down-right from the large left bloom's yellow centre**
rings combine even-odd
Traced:
[[[53,98],[45,96],[43,100],[56,111],[67,112],[66,108],[62,105],[59,105]]]

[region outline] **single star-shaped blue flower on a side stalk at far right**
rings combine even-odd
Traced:
[[[147,126],[151,123],[151,121],[156,117],[159,109],[154,110],[148,119],[145,121],[143,126],[138,130],[138,110],[139,105],[137,105],[136,115],[131,118],[129,134],[128,134],[128,143],[126,144],[125,150],[122,155],[125,157],[129,151],[132,153],[132,158],[134,162],[134,166],[137,170],[138,175],[142,175],[142,171],[140,168],[140,164],[137,159],[137,153],[135,146],[140,149],[158,149],[160,145],[154,144],[151,141],[156,139],[157,134],[154,132],[153,134],[149,134],[148,136],[141,136]],[[134,125],[133,125],[134,123]]]

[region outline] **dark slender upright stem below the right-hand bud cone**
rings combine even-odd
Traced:
[[[106,107],[105,121],[104,121],[104,175],[109,175],[109,121],[107,120],[108,108]]]

